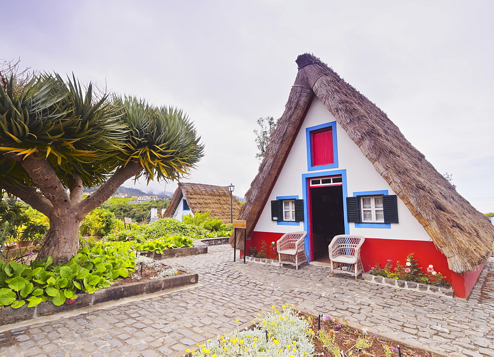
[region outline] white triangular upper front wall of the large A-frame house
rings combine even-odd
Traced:
[[[316,97],[312,102],[307,116],[302,123],[300,132],[288,154],[288,159],[278,177],[275,186],[268,198],[254,231],[287,233],[303,230],[303,222],[300,225],[280,225],[271,221],[270,201],[277,196],[298,195],[303,198],[302,175],[309,173],[307,170],[307,143],[305,129],[317,125],[334,122],[325,105]],[[338,167],[317,172],[346,170],[347,196],[353,196],[353,192],[388,190],[388,194],[396,194],[391,190],[387,182],[375,171],[371,162],[360,151],[360,148],[348,137],[346,132],[336,124],[338,145]],[[307,202],[304,202],[307,205]],[[307,217],[304,218],[308,220]],[[349,224],[349,234],[362,234],[367,238],[406,239],[406,240],[431,240],[424,228],[412,216],[405,204],[398,198],[399,223],[391,223],[391,228],[356,228],[355,223]]]

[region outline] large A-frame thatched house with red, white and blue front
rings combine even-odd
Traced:
[[[296,63],[285,112],[239,216],[247,220],[247,249],[303,229],[313,261],[328,257],[334,235],[362,234],[366,270],[388,259],[404,264],[414,253],[420,266],[448,277],[456,296],[468,297],[491,255],[494,226],[369,99],[313,55]]]

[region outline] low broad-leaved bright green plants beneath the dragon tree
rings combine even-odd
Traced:
[[[28,266],[14,261],[0,266],[0,305],[34,307],[43,301],[62,305],[77,294],[107,288],[134,271],[135,252],[120,243],[82,248],[69,263],[53,266],[51,257]]]

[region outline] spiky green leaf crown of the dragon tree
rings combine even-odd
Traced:
[[[41,74],[20,89],[15,83],[11,77],[0,86],[0,150],[46,158],[67,187],[75,174],[84,186],[101,184],[131,160],[143,167],[137,177],[177,179],[203,156],[181,110],[134,97],[98,98],[74,76]],[[9,185],[33,186],[18,161],[1,156],[0,172]]]

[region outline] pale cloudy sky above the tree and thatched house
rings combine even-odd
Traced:
[[[281,116],[297,55],[314,53],[453,174],[477,209],[492,212],[493,4],[2,1],[0,58],[183,108],[206,144],[190,180],[232,182],[243,196],[259,165],[256,119]]]

